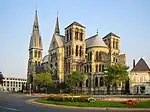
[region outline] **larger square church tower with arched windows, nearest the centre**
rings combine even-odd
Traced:
[[[65,74],[72,71],[82,71],[85,61],[85,27],[73,22],[65,28]]]

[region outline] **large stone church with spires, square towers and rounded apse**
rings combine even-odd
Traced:
[[[126,55],[120,53],[118,35],[110,32],[100,37],[97,32],[93,36],[86,37],[86,27],[76,21],[66,26],[65,35],[61,35],[58,17],[48,54],[44,58],[42,50],[36,11],[29,45],[28,83],[34,78],[36,71],[50,70],[55,83],[64,82],[65,76],[72,71],[81,71],[87,76],[84,84],[79,82],[79,89],[105,92],[103,81],[105,66],[126,63]]]

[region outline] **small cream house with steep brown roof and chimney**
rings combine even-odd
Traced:
[[[131,94],[150,94],[150,69],[143,58],[135,65],[130,72]]]

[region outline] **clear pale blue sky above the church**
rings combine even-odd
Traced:
[[[58,11],[61,34],[77,21],[86,27],[86,38],[109,32],[120,36],[121,53],[132,68],[142,57],[150,65],[150,0],[0,0],[0,71],[25,78],[29,40],[38,10],[43,56],[54,32]],[[131,69],[130,68],[130,69]]]

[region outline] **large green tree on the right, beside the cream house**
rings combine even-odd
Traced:
[[[108,94],[110,94],[110,86],[114,86],[117,88],[118,84],[126,83],[126,81],[128,80],[128,69],[129,67],[123,64],[114,64],[107,66],[106,71],[104,73],[104,79],[107,86]]]

